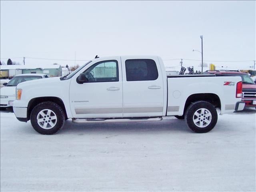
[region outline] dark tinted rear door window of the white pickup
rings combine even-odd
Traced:
[[[156,62],[152,59],[125,61],[126,81],[150,81],[158,78]]]

